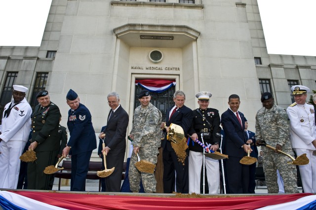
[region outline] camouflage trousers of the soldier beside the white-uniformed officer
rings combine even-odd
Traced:
[[[294,157],[291,149],[284,149],[283,152]],[[276,153],[269,149],[263,152],[263,170],[265,172],[268,193],[278,193],[276,170],[279,171],[284,182],[284,193],[298,193],[297,174],[294,165],[287,164],[291,159],[284,154]]]

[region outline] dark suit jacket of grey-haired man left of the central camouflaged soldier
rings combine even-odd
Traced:
[[[111,113],[111,111],[110,111]],[[110,116],[109,113],[109,116]],[[128,114],[119,105],[102,131],[105,133],[105,145],[111,149],[111,153],[121,153],[126,150],[126,130],[128,126]]]

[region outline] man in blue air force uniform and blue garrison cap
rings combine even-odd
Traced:
[[[70,139],[63,155],[67,157],[72,148],[70,190],[84,191],[92,150],[97,148],[95,132],[90,111],[85,105],[80,104],[77,93],[70,89],[66,99],[71,108],[68,111],[67,123]]]

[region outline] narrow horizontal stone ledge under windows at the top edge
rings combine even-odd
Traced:
[[[112,6],[146,6],[146,7],[166,7],[166,8],[186,8],[186,9],[203,9],[203,4],[195,3],[166,3],[166,2],[147,2],[147,1],[123,1],[113,0]]]

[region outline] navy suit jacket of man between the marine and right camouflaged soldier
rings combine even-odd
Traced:
[[[228,109],[222,114],[222,126],[225,132],[225,147],[224,154],[232,157],[245,156],[245,152],[241,147],[246,143],[246,136],[244,132],[245,118],[243,113],[238,111],[239,117],[241,119],[242,127],[231,109]]]

